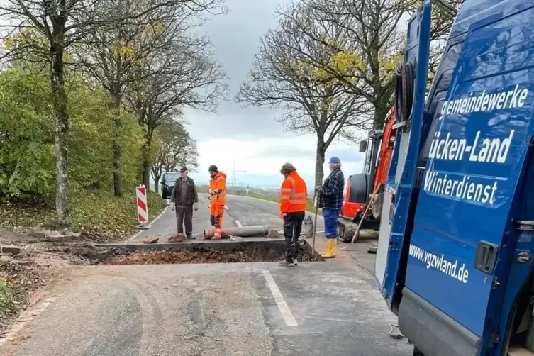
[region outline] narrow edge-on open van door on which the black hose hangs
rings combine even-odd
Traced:
[[[396,123],[399,128],[396,130],[395,151],[384,191],[375,275],[390,308],[393,306],[394,296],[399,294],[396,293],[399,286],[397,278],[404,276],[406,269],[406,262],[401,262],[401,251],[408,231],[408,220],[413,216],[410,214],[410,207],[413,205],[413,189],[416,187],[416,167],[428,78],[431,10],[430,2],[425,1],[408,22],[404,62],[415,62],[412,120],[404,121],[404,126],[399,126],[403,123]],[[391,182],[392,177],[394,182]]]

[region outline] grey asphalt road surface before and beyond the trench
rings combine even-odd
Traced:
[[[231,196],[227,205],[228,223],[281,226],[276,204]],[[167,211],[151,233],[174,228]],[[262,262],[136,265],[56,275],[62,278],[48,290],[53,301],[28,311],[0,355],[412,355],[406,339],[388,335],[396,318],[372,274],[340,258],[289,269]]]

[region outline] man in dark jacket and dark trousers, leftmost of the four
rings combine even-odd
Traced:
[[[199,210],[199,194],[196,191],[194,180],[187,176],[187,167],[180,169],[180,177],[174,183],[171,193],[171,209],[176,211],[178,235],[173,242],[193,239],[193,210]]]

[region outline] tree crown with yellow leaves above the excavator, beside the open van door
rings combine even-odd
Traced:
[[[328,58],[318,59],[295,48],[307,61],[323,69],[324,80],[347,84],[350,93],[365,98],[374,111],[374,127],[382,128],[392,105],[394,73],[403,55],[404,40],[399,21],[409,9],[405,0],[303,0],[313,9],[315,23],[328,23],[343,31],[343,40],[328,41],[316,26],[299,13],[279,11],[279,16],[298,24],[310,41],[330,48]]]

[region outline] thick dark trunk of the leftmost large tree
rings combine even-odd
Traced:
[[[67,135],[69,132],[69,113],[67,112],[67,93],[65,92],[65,67],[63,66],[64,48],[62,40],[50,46],[52,59],[50,82],[54,96],[55,111],[55,210],[61,223],[69,220],[69,192],[67,187]]]

